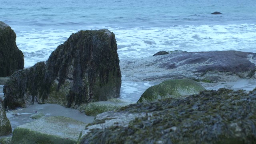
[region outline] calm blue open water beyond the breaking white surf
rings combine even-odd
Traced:
[[[255,24],[255,0],[1,0],[0,19],[18,30]],[[212,12],[223,15],[211,15]]]

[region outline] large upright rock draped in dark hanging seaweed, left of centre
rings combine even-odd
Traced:
[[[19,70],[4,86],[8,108],[34,102],[74,107],[119,97],[121,72],[115,35],[109,30],[72,34],[46,62]]]

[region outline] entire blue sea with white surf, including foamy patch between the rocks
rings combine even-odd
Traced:
[[[256,0],[0,0],[0,21],[16,32],[26,68],[72,33],[101,28],[116,35],[120,59],[160,50],[256,52],[255,20]],[[122,82],[121,97],[137,99],[152,85]]]

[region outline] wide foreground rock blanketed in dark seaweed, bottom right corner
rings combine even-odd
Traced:
[[[80,144],[255,144],[256,89],[204,91],[99,114]]]

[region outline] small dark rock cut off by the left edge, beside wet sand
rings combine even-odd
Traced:
[[[10,121],[6,117],[4,103],[0,98],[0,136],[7,136],[12,133]]]

